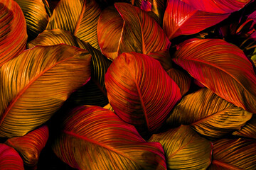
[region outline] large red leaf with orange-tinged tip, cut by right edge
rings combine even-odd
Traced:
[[[224,40],[192,40],[181,46],[174,62],[215,94],[256,113],[256,75],[252,63]]]

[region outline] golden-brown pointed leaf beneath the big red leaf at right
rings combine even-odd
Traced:
[[[250,118],[252,113],[204,88],[185,96],[174,108],[166,123],[171,127],[191,125],[196,132],[212,139],[240,130]]]

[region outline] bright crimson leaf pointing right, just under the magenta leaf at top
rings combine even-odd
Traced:
[[[230,14],[198,11],[182,0],[169,0],[164,13],[163,29],[169,40],[178,35],[190,35],[214,26]]]

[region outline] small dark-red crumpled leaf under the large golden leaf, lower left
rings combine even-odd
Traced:
[[[6,140],[5,144],[14,147],[21,154],[24,164],[36,166],[41,150],[46,146],[48,136],[48,127],[43,125],[23,137],[10,138]]]

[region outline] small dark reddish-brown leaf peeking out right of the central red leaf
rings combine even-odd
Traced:
[[[174,68],[169,69],[167,74],[178,85],[179,89],[181,90],[181,96],[184,96],[191,86],[191,77],[189,74]]]

